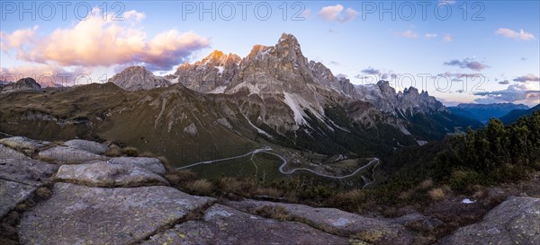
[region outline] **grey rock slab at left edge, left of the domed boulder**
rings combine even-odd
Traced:
[[[58,165],[31,158],[0,158],[0,179],[21,182],[39,187],[43,180],[52,176]]]

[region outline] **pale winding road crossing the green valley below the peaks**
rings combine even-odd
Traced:
[[[374,162],[376,162],[375,164],[375,167],[377,165],[379,165],[379,159],[378,158],[374,158],[374,160],[368,162],[367,164],[365,164],[364,166],[356,169],[356,171],[352,172],[352,173],[349,173],[347,175],[343,175],[343,176],[333,176],[333,175],[329,175],[329,174],[325,174],[325,173],[320,173],[320,172],[317,172],[317,171],[312,171],[310,169],[307,169],[307,168],[296,168],[296,169],[292,169],[292,170],[289,170],[289,171],[284,171],[284,167],[285,165],[287,165],[287,160],[284,159],[283,156],[279,155],[279,154],[276,154],[276,153],[271,153],[270,151],[272,151],[272,148],[268,147],[268,146],[265,146],[265,147],[262,147],[262,148],[259,148],[259,149],[256,149],[256,150],[253,150],[249,153],[245,153],[245,154],[242,154],[242,155],[238,155],[238,156],[233,156],[233,157],[228,157],[228,158],[222,158],[222,159],[217,159],[217,160],[211,160],[211,161],[203,161],[203,162],[195,162],[193,164],[189,164],[189,165],[186,165],[186,166],[183,166],[183,167],[179,167],[179,168],[176,168],[177,170],[184,170],[184,169],[188,169],[188,168],[191,168],[191,167],[194,167],[194,166],[197,166],[197,165],[201,165],[201,164],[211,164],[213,162],[223,162],[223,161],[229,161],[229,160],[233,160],[233,159],[238,159],[238,158],[243,158],[243,157],[247,157],[249,155],[251,155],[251,157],[253,158],[253,156],[257,153],[267,153],[267,154],[271,154],[271,155],[275,155],[276,157],[280,158],[282,160],[282,164],[281,166],[279,166],[279,171],[283,174],[293,174],[295,171],[309,171],[313,174],[316,174],[320,177],[325,177],[325,178],[330,178],[330,179],[347,179],[349,177],[353,177],[356,175],[356,173],[358,173],[359,171],[362,171],[364,170],[365,168],[371,166],[374,164]],[[374,180],[375,181],[375,180]],[[373,182],[374,182],[373,181]],[[371,182],[371,183],[373,183]],[[368,183],[368,184],[371,184],[371,183]],[[367,185],[367,184],[366,184]]]

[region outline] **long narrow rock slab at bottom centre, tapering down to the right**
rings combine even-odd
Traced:
[[[287,219],[309,223],[322,231],[350,236],[374,244],[410,244],[414,239],[405,227],[393,223],[392,220],[369,218],[336,208],[315,208],[249,199],[227,202],[227,205],[249,213],[257,213],[264,208],[279,208],[288,216]]]

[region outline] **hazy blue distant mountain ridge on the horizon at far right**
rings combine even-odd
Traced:
[[[527,110],[529,107],[524,104],[494,103],[494,104],[472,104],[463,103],[455,107],[448,107],[448,110],[456,115],[465,118],[473,118],[487,123],[490,118],[501,118],[512,110]]]

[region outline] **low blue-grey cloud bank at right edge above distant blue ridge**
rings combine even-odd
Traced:
[[[512,84],[505,90],[492,91],[492,92],[473,92],[474,95],[482,96],[474,101],[477,102],[493,102],[493,101],[537,101],[538,90],[531,90],[527,87],[527,84]],[[536,102],[537,103],[537,102]]]

